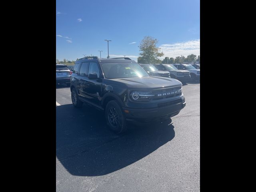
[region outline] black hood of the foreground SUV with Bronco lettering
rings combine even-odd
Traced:
[[[116,86],[126,86],[132,89],[155,89],[167,88],[172,86],[182,86],[182,83],[176,79],[165,77],[131,77],[118,79],[104,79],[106,84]]]

